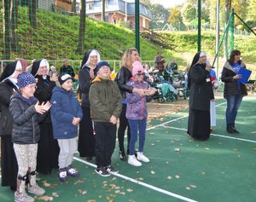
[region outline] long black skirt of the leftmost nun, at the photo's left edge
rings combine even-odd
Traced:
[[[18,164],[15,156],[12,136],[1,136],[1,175],[2,186],[16,189]]]

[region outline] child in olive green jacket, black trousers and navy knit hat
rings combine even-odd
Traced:
[[[97,76],[91,82],[89,91],[90,117],[94,121],[96,139],[96,173],[110,176],[119,172],[111,165],[116,139],[116,123],[122,111],[122,96],[119,87],[110,80],[110,66],[107,61],[97,64]]]

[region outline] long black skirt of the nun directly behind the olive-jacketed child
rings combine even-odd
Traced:
[[[79,124],[80,157],[95,157],[96,141],[93,135],[90,107],[82,107],[83,118]]]

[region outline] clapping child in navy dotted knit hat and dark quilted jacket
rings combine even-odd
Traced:
[[[39,188],[36,182],[38,141],[40,139],[38,123],[44,120],[51,105],[49,101],[39,105],[38,100],[34,97],[36,79],[31,73],[20,73],[17,83],[20,91],[11,97],[9,105],[9,111],[14,120],[12,141],[19,168],[15,201],[34,201],[26,194],[26,176],[29,177],[28,192],[43,195],[44,189]]]

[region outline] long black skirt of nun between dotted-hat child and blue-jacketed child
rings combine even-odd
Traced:
[[[58,168],[60,148],[53,138],[52,124],[40,124],[40,141],[38,142],[37,171],[49,174],[53,168]]]

